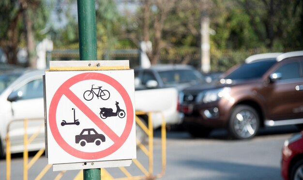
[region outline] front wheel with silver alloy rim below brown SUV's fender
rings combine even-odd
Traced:
[[[254,108],[248,105],[237,105],[229,119],[229,133],[236,139],[252,138],[258,132],[259,121],[258,113]]]

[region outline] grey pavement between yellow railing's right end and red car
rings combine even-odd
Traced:
[[[250,140],[232,140],[225,130],[195,139],[186,132],[167,133],[164,180],[282,180],[284,140],[300,130],[294,126],[262,129]]]

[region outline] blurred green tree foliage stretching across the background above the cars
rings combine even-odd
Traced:
[[[55,48],[78,48],[78,26],[75,0],[29,0],[39,6],[31,7],[35,40],[49,28]],[[137,48],[143,37],[143,5],[145,0],[96,0],[96,36],[99,59],[110,59],[115,48]],[[132,3],[136,10],[121,14],[116,3]],[[161,15],[161,6],[150,0],[148,38],[155,45],[154,25]],[[202,2],[208,2],[207,11]],[[67,23],[56,28],[48,20],[53,5]],[[0,45],[7,45],[10,23],[18,14],[19,0],[0,0]],[[158,6],[157,6],[158,5]],[[303,0],[176,0],[165,16],[161,29],[159,60],[163,63],[200,62],[201,15],[210,17],[211,66],[225,71],[246,57],[263,52],[286,52],[303,47]],[[25,46],[22,20],[17,21],[18,45]],[[155,48],[154,48],[155,49]],[[153,50],[154,50],[153,49]]]

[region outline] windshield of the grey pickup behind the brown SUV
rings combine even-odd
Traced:
[[[202,74],[193,70],[171,70],[159,72],[163,83],[168,84],[180,84],[188,82],[203,82]]]

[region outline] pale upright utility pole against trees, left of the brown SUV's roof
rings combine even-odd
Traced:
[[[202,13],[201,13],[201,71],[209,73],[211,70],[210,58],[210,18],[208,15],[208,2],[202,0]]]

